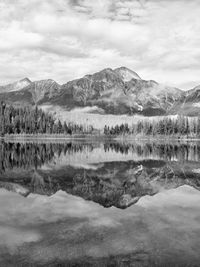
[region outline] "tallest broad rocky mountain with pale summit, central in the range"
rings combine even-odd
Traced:
[[[161,115],[182,94],[177,88],[142,80],[135,72],[121,67],[70,81],[50,102],[68,109],[97,106],[106,114]]]

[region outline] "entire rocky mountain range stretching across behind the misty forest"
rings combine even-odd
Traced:
[[[48,104],[68,111],[87,107],[101,114],[200,114],[200,86],[183,91],[144,80],[126,67],[107,68],[62,85],[51,79],[32,82],[25,78],[0,86],[0,99],[13,105]]]

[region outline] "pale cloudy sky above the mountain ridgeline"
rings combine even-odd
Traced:
[[[62,84],[126,66],[191,89],[200,84],[199,14],[199,0],[0,0],[0,84]]]

